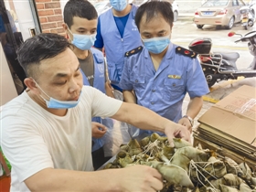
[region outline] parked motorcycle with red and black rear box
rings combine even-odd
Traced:
[[[235,42],[248,42],[248,48],[253,55],[251,65],[247,69],[238,69],[236,66],[237,59],[240,54],[237,52],[211,53],[212,42],[211,38],[203,37],[193,40],[188,48],[198,54],[198,59],[204,71],[208,87],[213,86],[220,80],[237,80],[238,77],[245,78],[256,77],[256,31],[251,31],[242,36],[234,32],[229,33],[229,37],[239,35],[240,39]]]

